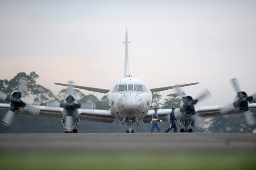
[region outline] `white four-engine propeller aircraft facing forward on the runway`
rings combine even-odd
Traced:
[[[70,83],[55,84],[70,87]],[[183,96],[178,90],[180,87],[196,84],[198,83],[150,88],[140,79],[132,77],[129,72],[128,36],[126,29],[124,78],[120,79],[111,89],[72,84],[74,88],[108,94],[109,110],[82,109],[79,107],[79,103],[77,103],[75,96],[72,94],[69,94],[63,102],[57,105],[32,107],[37,107],[40,110],[40,116],[62,118],[61,122],[63,123],[64,131],[68,133],[77,132],[76,129],[73,129],[73,125],[76,124],[78,126],[80,120],[103,123],[113,123],[113,121],[119,120],[122,121],[123,125],[126,124],[128,128],[127,133],[133,133],[134,130],[132,130],[132,128],[135,124],[138,125],[140,120],[144,123],[150,123],[152,121],[152,114],[154,113],[154,110],[150,110],[152,107],[152,93],[168,89],[177,89],[181,96],[181,104],[180,107],[175,110],[175,117],[179,119],[185,127],[181,129],[181,132],[193,132],[191,128],[188,129],[190,123],[193,127],[201,127],[203,122],[200,117],[222,114],[242,113],[245,116],[247,125],[254,125],[256,123],[254,116],[249,111],[250,109],[256,108],[256,103],[249,103],[255,101],[256,94],[247,96],[246,92],[240,91],[237,82],[233,81],[233,85],[237,91],[234,103],[230,105],[196,107],[195,104],[198,101],[209,96],[208,91],[194,99],[190,95]],[[70,87],[70,89],[72,88]],[[11,107],[11,104],[0,103],[0,108],[6,109],[9,107]],[[23,107],[22,111],[23,112],[20,112],[20,114],[28,114],[29,112],[26,107]],[[170,112],[171,109],[158,110],[158,116],[162,121],[170,121]],[[179,125],[181,125],[181,123],[179,123]]]

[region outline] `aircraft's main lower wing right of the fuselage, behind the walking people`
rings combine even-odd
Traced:
[[[216,105],[216,106],[201,106],[201,107],[195,107],[196,114],[198,114],[201,117],[208,117],[208,116],[219,116],[219,115],[225,115],[225,114],[237,114],[234,110],[227,112],[225,114],[221,114],[219,111],[220,107],[225,107],[228,105]],[[256,109],[256,103],[249,103],[249,109]],[[158,117],[162,121],[170,121],[170,112],[171,109],[160,109],[157,111]],[[152,114],[154,110],[150,110],[147,112],[146,116],[142,119],[144,123],[150,123],[152,121]],[[182,114],[179,111],[179,108],[175,110],[175,117],[178,119],[180,114]]]

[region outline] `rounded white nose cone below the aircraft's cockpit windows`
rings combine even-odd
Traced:
[[[125,93],[118,100],[119,113],[126,117],[135,117],[142,114],[144,107],[142,97],[137,93]]]

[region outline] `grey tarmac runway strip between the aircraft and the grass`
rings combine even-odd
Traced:
[[[0,134],[0,152],[256,152],[253,133]]]

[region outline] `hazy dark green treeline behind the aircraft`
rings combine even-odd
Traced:
[[[39,76],[35,72],[31,72],[27,75],[24,72],[18,73],[11,80],[0,80],[0,92],[4,92],[8,95],[14,90],[17,90],[18,82],[21,77],[25,77],[29,80],[23,95],[26,98],[33,98],[33,105],[44,105],[45,101],[54,100],[61,101],[67,95],[67,89],[62,89],[56,96],[50,89],[43,87],[36,83],[36,79]],[[84,95],[80,90],[74,89],[74,96],[76,96],[79,103],[83,102],[94,102],[96,109],[108,110],[107,96],[103,96],[100,100],[93,94]],[[160,107],[161,109],[176,107],[179,108],[181,98],[177,94],[169,94],[168,98],[161,101],[161,95],[158,93],[153,93],[152,96],[152,108]],[[5,101],[0,101],[0,103],[5,103]],[[7,110],[0,109],[0,120]],[[255,113],[255,110],[253,110]],[[247,127],[245,124],[242,114],[224,115],[224,116],[213,116],[202,118],[204,119],[205,125],[202,129],[193,128],[193,132],[253,132],[256,130],[256,125]],[[160,128],[162,131],[166,130],[169,126],[169,122],[165,121],[160,123]],[[139,122],[138,126],[133,128],[134,132],[150,132],[151,123]],[[179,127],[178,132],[179,132]],[[181,127],[182,128],[182,127]],[[184,128],[184,127],[183,127]],[[79,133],[104,133],[104,132],[126,132],[127,128],[122,125],[121,121],[114,121],[110,123],[98,123],[91,121],[80,121],[79,127],[77,128]],[[62,133],[63,127],[61,124],[61,119],[54,117],[44,117],[44,116],[33,116],[33,115],[23,115],[15,114],[14,122],[11,126],[7,127],[0,123],[0,133]],[[170,131],[173,132],[173,131]]]

